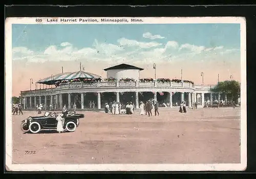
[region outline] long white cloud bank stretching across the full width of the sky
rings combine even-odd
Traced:
[[[26,47],[12,49],[13,60],[26,60],[27,62],[47,61],[108,61],[110,63],[135,62],[152,63],[182,60],[217,60],[224,55],[230,55],[238,49],[225,49],[219,47],[204,47],[177,41],[141,42],[132,39],[120,38],[117,44],[94,40],[92,47],[76,48],[69,42],[56,46],[49,46],[44,51],[33,52]],[[236,54],[237,55],[237,54]]]

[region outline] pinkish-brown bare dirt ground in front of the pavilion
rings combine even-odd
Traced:
[[[159,116],[83,111],[74,132],[23,133],[13,115],[13,164],[240,163],[240,108],[161,108]],[[44,113],[44,112],[43,112]],[[42,114],[43,115],[43,114]],[[25,154],[33,150],[35,154]]]

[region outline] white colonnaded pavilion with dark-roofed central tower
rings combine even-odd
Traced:
[[[195,85],[190,82],[161,82],[140,81],[139,72],[143,69],[136,66],[121,64],[104,69],[108,78],[115,78],[116,81],[97,81],[93,83],[71,82],[63,83],[54,88],[35,89],[31,91],[22,91],[20,96],[24,99],[24,108],[34,108],[38,104],[54,105],[61,109],[64,105],[72,108],[76,103],[80,109],[104,108],[106,102],[117,101],[126,103],[132,101],[136,108],[139,108],[140,101],[155,99],[169,103],[169,107],[186,101],[186,105],[191,107],[194,102],[204,106],[204,102],[209,100],[220,100],[221,95],[211,91],[214,85]],[[68,75],[70,76],[70,75]],[[53,79],[46,78],[46,79]],[[75,77],[74,77],[75,78]],[[120,81],[122,78],[132,78],[132,81]],[[41,81],[44,83],[44,81]],[[47,81],[46,84],[49,84]],[[222,97],[227,100],[226,97]]]

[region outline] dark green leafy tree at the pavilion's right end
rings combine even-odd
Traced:
[[[227,98],[237,101],[240,97],[240,82],[236,80],[221,81],[212,89],[212,92],[224,93]]]

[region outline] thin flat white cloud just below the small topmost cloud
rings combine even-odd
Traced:
[[[127,47],[140,47],[141,49],[148,49],[148,48],[152,48],[152,47],[157,47],[160,46],[162,43],[158,43],[158,42],[140,42],[137,40],[130,40],[130,39],[126,39],[126,38],[120,38],[117,40],[117,42],[121,45],[121,46],[127,46]]]

